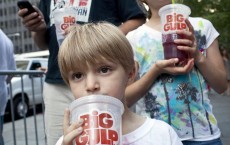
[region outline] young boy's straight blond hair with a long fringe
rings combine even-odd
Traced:
[[[68,29],[58,54],[60,72],[68,85],[70,71],[107,60],[121,64],[126,72],[134,68],[132,47],[116,26],[100,22]]]

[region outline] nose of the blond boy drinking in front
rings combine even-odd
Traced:
[[[87,92],[96,92],[99,90],[99,82],[97,78],[93,75],[88,75],[86,80],[86,91]]]

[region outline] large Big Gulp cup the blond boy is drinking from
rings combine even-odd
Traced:
[[[123,103],[111,96],[90,95],[70,104],[70,120],[84,120],[76,145],[121,145]]]

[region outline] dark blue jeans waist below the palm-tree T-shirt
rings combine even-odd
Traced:
[[[182,141],[183,145],[223,145],[220,138],[210,141]]]

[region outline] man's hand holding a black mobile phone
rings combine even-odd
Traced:
[[[40,32],[46,30],[46,23],[44,21],[44,16],[41,11],[34,6],[34,9],[37,12],[33,12],[27,16],[24,16],[27,13],[27,9],[19,9],[18,16],[21,17],[23,25],[30,31]]]

